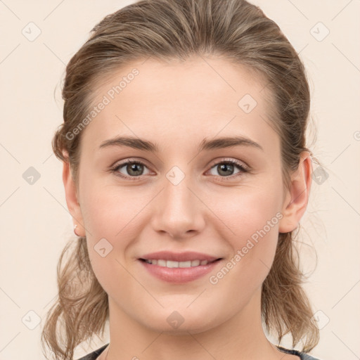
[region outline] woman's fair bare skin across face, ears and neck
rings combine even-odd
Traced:
[[[68,209],[77,234],[86,235],[94,273],[109,299],[110,345],[98,359],[299,359],[266,339],[260,299],[278,233],[295,229],[306,210],[310,154],[302,153],[285,189],[280,139],[264,121],[271,106],[266,82],[221,58],[133,62],[97,84],[94,104],[133,68],[139,75],[82,132],[78,189],[68,163],[63,167]],[[245,94],[257,101],[248,114],[238,106]],[[205,137],[235,134],[263,150],[233,146],[198,153]],[[153,141],[160,151],[99,149],[120,135]],[[216,165],[224,158],[250,171],[234,167],[221,174]],[[109,170],[127,159],[145,162],[136,181]],[[174,166],[185,174],[176,186],[166,177]],[[134,177],[126,166],[117,172]],[[212,285],[210,275],[279,212],[282,219]],[[113,245],[105,257],[94,250],[101,238]],[[148,274],[138,260],[158,250],[193,250],[224,259],[209,275],[171,284]],[[175,310],[184,318],[179,328],[167,323]]]

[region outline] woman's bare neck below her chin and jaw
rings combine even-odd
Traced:
[[[110,345],[105,349],[105,356],[98,359],[284,359],[285,354],[264,334],[260,295],[257,293],[238,314],[203,332],[193,331],[189,326],[173,331],[153,330],[125,314],[109,298]]]

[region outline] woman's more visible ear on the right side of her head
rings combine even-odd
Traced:
[[[311,187],[312,162],[311,154],[303,151],[297,170],[291,175],[290,188],[283,203],[283,218],[279,222],[278,231],[288,233],[297,228],[309,201]]]

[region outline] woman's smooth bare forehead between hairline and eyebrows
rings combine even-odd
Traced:
[[[83,134],[94,146],[117,134],[169,142],[238,131],[261,141],[271,131],[266,79],[221,58],[134,61],[96,82],[94,94],[93,106],[105,104]]]

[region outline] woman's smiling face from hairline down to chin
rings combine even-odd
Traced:
[[[198,333],[245,308],[259,315],[278,233],[291,230],[265,84],[214,58],[134,62],[98,84],[81,134],[79,219],[114,318]],[[148,256],[160,251],[174,257]],[[200,255],[176,257],[185,252]],[[205,257],[220,260],[188,263]]]

